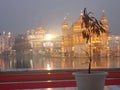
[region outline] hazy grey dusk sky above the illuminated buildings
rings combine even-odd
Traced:
[[[0,0],[0,32],[25,33],[43,26],[58,33],[64,17],[71,24],[87,8],[98,19],[105,15],[111,34],[120,34],[120,0]]]

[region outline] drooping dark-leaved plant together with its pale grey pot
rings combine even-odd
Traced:
[[[92,12],[87,12],[86,8],[83,10],[82,20],[83,38],[86,39],[86,43],[90,43],[90,52],[85,51],[89,59],[89,67],[88,72],[74,72],[73,75],[75,75],[78,90],[103,90],[107,73],[91,71],[91,37],[93,34],[99,37],[101,33],[106,33],[106,30]]]

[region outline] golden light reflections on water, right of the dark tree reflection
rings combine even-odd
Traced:
[[[33,67],[34,69],[47,68],[47,70],[52,69],[78,69],[78,68],[87,68],[88,60],[87,58],[46,58],[42,61],[42,58],[39,60],[38,67]],[[34,66],[36,66],[34,61]],[[117,58],[95,58],[92,61],[92,68],[119,68],[120,67],[120,57]]]

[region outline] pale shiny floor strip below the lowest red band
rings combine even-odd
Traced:
[[[64,88],[41,88],[41,89],[22,89],[22,90],[78,90],[78,89],[76,87],[64,87]],[[104,90],[120,90],[120,86],[116,86],[116,85],[105,86]]]

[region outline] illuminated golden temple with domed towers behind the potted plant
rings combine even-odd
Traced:
[[[109,47],[108,47],[108,20],[107,17],[102,15],[100,19],[101,23],[104,25],[104,28],[107,33],[101,33],[99,37],[92,35],[91,38],[91,53],[92,56],[106,57],[109,56]],[[73,56],[84,56],[85,51],[89,51],[89,43],[86,44],[85,39],[82,36],[82,12],[80,17],[69,26],[67,19],[64,19],[62,23],[62,34],[63,34],[63,48],[66,55]]]

